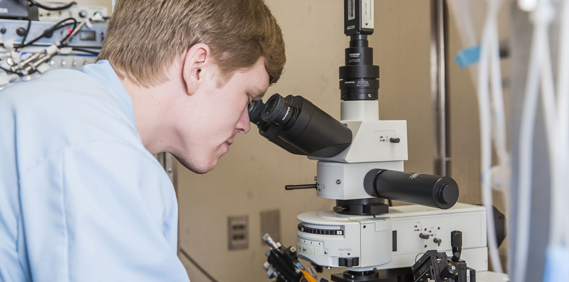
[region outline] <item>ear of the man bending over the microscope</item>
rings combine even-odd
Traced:
[[[189,95],[193,95],[204,81],[204,67],[211,65],[211,51],[207,44],[197,43],[185,54],[182,75]]]

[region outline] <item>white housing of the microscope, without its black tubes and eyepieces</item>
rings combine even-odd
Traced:
[[[378,108],[377,101],[341,102],[340,122],[352,130],[353,142],[335,157],[309,157],[319,160],[318,197],[371,198],[363,187],[369,170],[403,171],[403,161],[407,160],[406,121],[380,121]],[[481,206],[457,203],[448,210],[398,206],[380,215],[314,211],[296,219],[300,221],[296,231],[299,258],[325,267],[360,272],[411,267],[427,250],[452,255],[450,232],[461,230],[462,258],[477,271],[488,270],[486,218]]]

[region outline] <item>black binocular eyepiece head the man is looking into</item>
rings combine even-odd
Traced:
[[[333,157],[352,143],[352,130],[302,96],[278,93],[249,105],[249,119],[269,141],[293,154]]]

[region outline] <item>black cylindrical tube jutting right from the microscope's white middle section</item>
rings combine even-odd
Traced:
[[[459,198],[459,187],[450,177],[396,170],[370,170],[364,189],[373,197],[443,210],[450,209]]]

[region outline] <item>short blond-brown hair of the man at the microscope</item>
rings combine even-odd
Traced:
[[[197,43],[208,45],[222,81],[263,58],[273,84],[286,62],[281,27],[263,0],[118,0],[97,59],[150,87]]]

